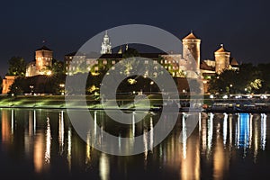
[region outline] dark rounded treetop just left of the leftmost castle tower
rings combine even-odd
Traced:
[[[13,57],[8,60],[8,73],[11,76],[25,76],[26,62],[22,57]]]

